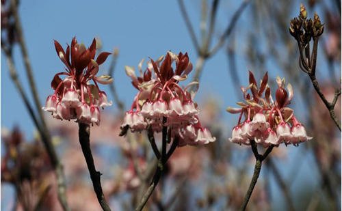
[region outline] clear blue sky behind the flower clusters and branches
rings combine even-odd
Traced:
[[[194,27],[198,29],[200,5],[196,1],[188,2],[187,5]],[[137,68],[141,59],[157,58],[168,50],[174,53],[187,52],[190,61],[196,62],[197,55],[176,1],[21,1],[19,9],[42,104],[52,93],[50,83],[54,74],[64,70],[55,53],[53,39],[66,46],[73,36],[77,36],[79,42],[88,46],[97,36],[103,42],[103,51],[112,51],[114,46],[118,47],[120,55],[114,83],[126,105],[133,100],[135,89],[124,73],[125,65]],[[233,12],[235,8],[231,10]],[[227,18],[231,14],[220,16]],[[29,94],[18,50],[18,47],[14,48],[16,68]],[[226,55],[222,52],[205,64],[197,99],[216,93],[223,98],[222,103],[226,107],[234,102],[232,99],[235,95],[229,91],[231,79],[228,77]],[[1,124],[6,128],[18,124],[30,136],[33,130],[31,119],[10,80],[8,66],[4,59],[2,61]],[[102,66],[103,73],[108,66],[109,61]]]

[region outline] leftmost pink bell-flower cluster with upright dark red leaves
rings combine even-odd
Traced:
[[[96,40],[89,48],[78,44],[73,38],[66,51],[60,43],[55,41],[57,55],[66,66],[66,72],[55,74],[51,87],[55,89],[53,95],[48,96],[46,106],[42,109],[52,113],[56,119],[77,119],[86,124],[100,123],[101,113],[99,107],[107,107],[107,95],[98,87],[98,83],[108,84],[113,81],[110,76],[96,76],[98,66],[103,64],[110,53],[103,52],[96,60]],[[66,75],[60,79],[60,75]],[[94,81],[94,85],[90,84]]]

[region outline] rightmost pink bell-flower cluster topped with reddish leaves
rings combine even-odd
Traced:
[[[237,102],[240,108],[228,107],[227,109],[229,113],[240,114],[229,141],[246,145],[250,145],[250,141],[255,141],[268,147],[280,143],[298,145],[298,143],[312,139],[306,135],[304,126],[295,118],[293,110],[286,107],[293,98],[291,84],[287,85],[286,91],[285,79],[277,76],[278,89],[274,102],[271,89],[267,84],[267,72],[263,76],[260,87],[257,86],[252,72],[250,72],[249,81],[248,87],[241,87],[246,102]],[[245,119],[241,122],[243,115]]]

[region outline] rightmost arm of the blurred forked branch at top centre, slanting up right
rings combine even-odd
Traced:
[[[231,23],[229,23],[228,27],[222,34],[218,44],[216,44],[216,46],[213,47],[213,49],[208,53],[208,57],[211,57],[212,55],[214,55],[223,46],[224,40],[226,40],[226,38],[228,38],[228,36],[233,31],[235,24],[237,23],[237,20],[239,19],[239,16],[242,14],[242,12],[244,11],[248,3],[249,3],[249,0],[245,0],[244,2],[241,3],[237,11],[234,13]]]

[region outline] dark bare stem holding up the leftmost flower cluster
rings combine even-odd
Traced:
[[[105,200],[105,195],[103,195],[101,186],[101,173],[96,171],[94,165],[94,159],[92,157],[92,151],[90,150],[90,126],[89,124],[79,123],[79,143],[82,147],[82,152],[84,158],[86,158],[86,163],[90,173],[90,178],[92,179],[92,185],[94,186],[94,191],[101,208],[105,211],[110,210],[107,201]]]

